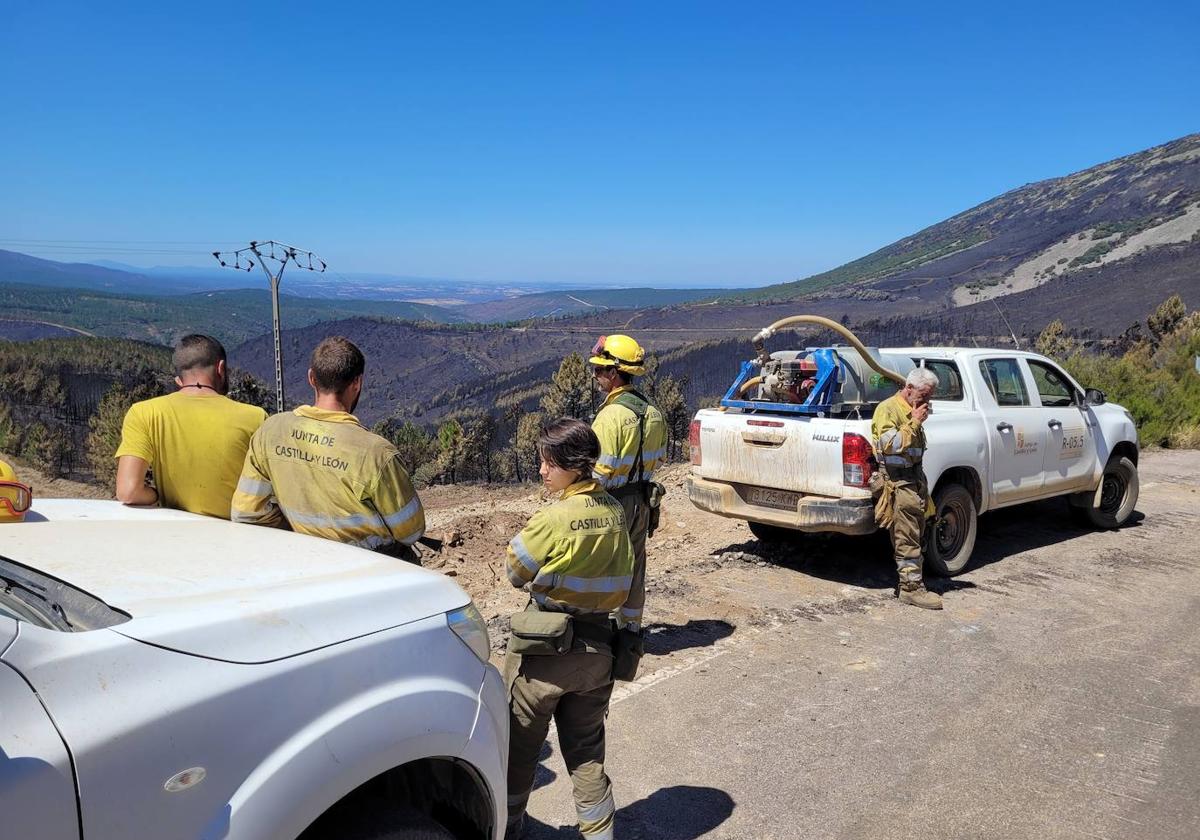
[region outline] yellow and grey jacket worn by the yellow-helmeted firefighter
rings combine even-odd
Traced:
[[[628,396],[625,396],[628,395]],[[644,420],[629,403],[646,406]],[[662,413],[629,386],[618,388],[605,397],[592,431],[600,438],[600,458],[592,476],[606,490],[624,487],[638,480],[638,427],[642,427],[642,481],[653,481],[654,470],[667,457],[667,425]]]

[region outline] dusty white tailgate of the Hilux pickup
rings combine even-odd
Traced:
[[[842,484],[846,432],[869,438],[870,421],[788,418],[702,410],[701,463],[692,474],[714,481],[804,494],[862,498],[869,491]]]

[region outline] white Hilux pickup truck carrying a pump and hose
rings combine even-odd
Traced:
[[[937,516],[926,569],[955,575],[979,514],[1066,496],[1076,514],[1118,528],[1138,502],[1138,430],[1104,394],[1036,353],[911,347],[882,354],[937,374],[925,422],[925,476]],[[748,407],[703,409],[691,422],[692,504],[745,520],[763,540],[796,532],[869,534],[876,468],[871,412],[826,416]]]

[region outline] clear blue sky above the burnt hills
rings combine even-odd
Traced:
[[[0,248],[794,280],[1200,131],[1198,8],[7,0]]]

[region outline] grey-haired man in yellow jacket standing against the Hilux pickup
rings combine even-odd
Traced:
[[[922,469],[925,456],[925,420],[937,376],[924,367],[908,373],[904,388],[884,400],[871,418],[871,437],[880,472],[872,476],[875,521],[892,535],[901,604],[941,610],[942,599],[925,589],[922,580],[920,540],[925,520],[934,515],[929,482]]]

